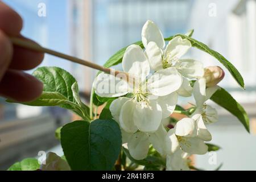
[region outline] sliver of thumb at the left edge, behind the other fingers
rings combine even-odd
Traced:
[[[13,46],[9,38],[0,30],[0,81],[2,80],[13,56]]]

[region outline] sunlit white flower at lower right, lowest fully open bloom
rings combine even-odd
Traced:
[[[206,129],[200,114],[193,118],[184,118],[176,123],[174,129],[168,131],[166,136],[166,154],[172,155],[181,148],[189,154],[203,155],[208,147],[204,141],[212,139]]]

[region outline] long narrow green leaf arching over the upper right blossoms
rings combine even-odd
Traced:
[[[218,61],[220,61],[221,64],[224,65],[224,67],[226,67],[226,69],[228,69],[228,71],[235,78],[235,80],[238,82],[238,84],[243,89],[245,88],[245,84],[243,82],[243,78],[242,78],[240,72],[238,72],[237,68],[234,67],[234,65],[232,63],[230,63],[224,56],[222,56],[220,53],[214,51],[213,49],[210,49],[204,43],[201,43],[189,36],[186,36],[183,34],[177,34],[177,35],[175,35],[175,37],[176,36],[181,36],[181,38],[183,38],[183,39],[188,39],[191,42],[192,47],[196,47],[196,48],[200,49],[201,51],[207,52],[207,53],[209,53],[209,55],[215,57]]]

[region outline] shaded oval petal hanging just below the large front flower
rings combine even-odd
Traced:
[[[136,160],[146,158],[150,141],[145,133],[137,132],[133,134],[128,142],[128,150]]]

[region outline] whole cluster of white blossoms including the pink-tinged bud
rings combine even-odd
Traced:
[[[208,151],[204,142],[212,136],[205,125],[217,122],[218,115],[205,102],[219,89],[217,83],[224,72],[219,67],[204,68],[200,61],[181,59],[191,42],[176,36],[166,45],[162,32],[150,20],[142,28],[142,43],[144,50],[134,44],[123,55],[122,68],[132,82],[100,73],[93,87],[100,97],[118,97],[110,111],[134,159],[146,158],[152,144],[166,157],[167,170],[188,170],[189,155]],[[174,112],[178,97],[192,94],[195,111],[169,130],[163,120]]]

